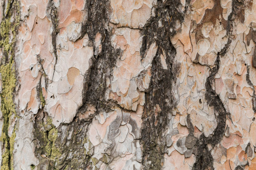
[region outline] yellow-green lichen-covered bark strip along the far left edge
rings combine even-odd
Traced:
[[[10,5],[12,3],[12,5]],[[8,136],[10,116],[16,115],[13,103],[13,91],[16,85],[14,66],[14,46],[16,30],[20,23],[20,5],[17,0],[8,0],[5,18],[0,25],[0,48],[3,49],[3,60],[0,66],[2,78],[1,111],[3,113],[3,128],[0,140],[3,142],[1,170],[13,170],[13,145],[16,137],[15,127],[13,134]],[[15,116],[14,116],[15,117]]]

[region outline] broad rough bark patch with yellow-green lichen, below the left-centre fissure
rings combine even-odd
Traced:
[[[86,150],[90,121],[74,120],[55,128],[46,112],[40,110],[35,117],[34,136],[38,169],[86,169],[90,168],[93,150]]]

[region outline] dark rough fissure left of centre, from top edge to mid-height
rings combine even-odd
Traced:
[[[108,15],[110,13],[110,1],[108,0],[87,0],[88,18],[82,25],[82,35],[88,33],[93,44],[95,35],[100,33],[102,36],[102,52],[97,53],[90,63],[90,68],[84,78],[84,95],[82,112],[87,104],[97,107],[97,112],[101,106],[108,107],[105,101],[106,78],[111,77],[111,72],[118,58],[118,51],[111,45],[111,30],[108,30]],[[94,52],[95,52],[95,44]],[[108,107],[109,108],[109,107]]]

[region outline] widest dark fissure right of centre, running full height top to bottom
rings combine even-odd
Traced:
[[[186,1],[189,4],[189,1]],[[151,43],[156,42],[158,50],[153,59],[151,67],[151,81],[148,92],[145,94],[145,107],[142,116],[141,144],[143,145],[144,169],[160,170],[164,163],[166,152],[166,141],[163,132],[168,125],[168,114],[175,106],[172,94],[172,85],[176,81],[176,74],[179,72],[179,65],[175,65],[173,59],[176,50],[171,43],[170,37],[175,32],[176,21],[183,22],[184,12],[180,9],[181,3],[178,0],[157,1],[154,5],[155,16],[152,16],[143,30],[143,44],[141,54],[145,55]],[[153,14],[152,14],[153,15]],[[159,27],[161,22],[161,27]],[[168,69],[161,66],[160,55],[166,55]]]

